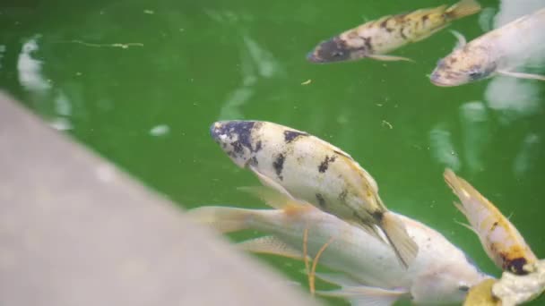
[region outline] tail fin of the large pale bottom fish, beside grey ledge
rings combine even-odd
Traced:
[[[247,220],[254,213],[254,210],[244,208],[203,206],[188,210],[186,216],[221,233],[231,233],[247,229]]]

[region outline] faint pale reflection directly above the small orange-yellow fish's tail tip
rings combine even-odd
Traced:
[[[431,129],[429,132],[429,149],[439,164],[454,171],[460,169],[460,159],[454,150],[451,132],[446,131],[441,126]]]

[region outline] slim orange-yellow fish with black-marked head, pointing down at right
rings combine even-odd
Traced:
[[[468,219],[471,230],[479,236],[489,258],[506,271],[517,275],[527,274],[524,266],[535,263],[537,258],[515,226],[494,204],[452,170],[446,169],[444,176],[462,202],[456,203],[456,208]]]

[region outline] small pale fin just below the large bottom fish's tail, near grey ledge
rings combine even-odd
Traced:
[[[303,259],[303,253],[275,236],[264,236],[237,243],[238,249],[258,254],[270,254],[290,259]]]

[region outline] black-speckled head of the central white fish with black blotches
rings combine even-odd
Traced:
[[[260,122],[232,120],[212,123],[210,135],[237,166],[245,167],[261,150],[261,141],[256,140],[255,131]]]

